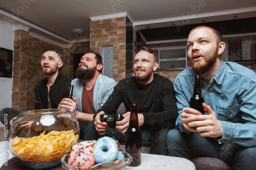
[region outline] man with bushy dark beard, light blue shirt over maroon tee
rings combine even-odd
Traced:
[[[101,75],[102,67],[102,57],[98,53],[86,52],[76,70],[77,78],[71,82],[74,85],[73,100],[65,98],[58,107],[68,109],[76,116],[80,139],[84,139],[84,129],[92,122],[93,115],[103,106],[117,84],[114,79]]]

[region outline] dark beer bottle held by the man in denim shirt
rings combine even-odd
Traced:
[[[189,107],[194,108],[204,114],[203,104],[204,99],[202,97],[202,89],[201,89],[201,76],[195,76],[194,83],[194,92],[192,97],[190,98]]]

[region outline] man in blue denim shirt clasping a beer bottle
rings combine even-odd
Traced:
[[[191,68],[175,80],[179,129],[168,132],[169,156],[214,157],[234,169],[256,167],[256,74],[224,62],[225,43],[219,31],[200,26],[190,31],[187,57]],[[202,77],[205,114],[189,108],[195,75]]]

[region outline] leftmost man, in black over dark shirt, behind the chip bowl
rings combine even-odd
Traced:
[[[46,78],[36,83],[34,87],[36,101],[40,102],[41,109],[57,109],[60,101],[66,97],[71,79],[59,73],[63,65],[60,53],[49,50],[41,57],[41,68]],[[8,114],[8,129],[20,113],[19,110],[4,108],[0,111],[1,122],[4,115]]]

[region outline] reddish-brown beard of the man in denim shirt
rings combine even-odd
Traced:
[[[194,61],[193,59],[189,58],[189,62],[196,74],[201,75],[207,72],[212,67],[212,65],[215,64],[217,58],[218,49],[216,49],[212,56],[204,55],[204,60]]]

